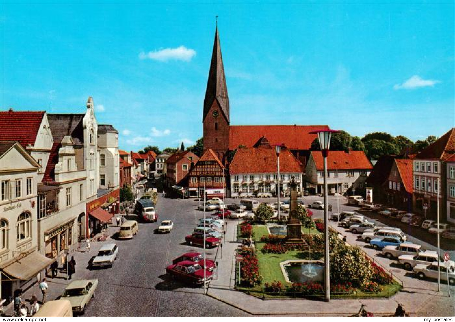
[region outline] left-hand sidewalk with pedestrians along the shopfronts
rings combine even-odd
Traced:
[[[104,233],[97,234],[94,238],[100,236],[101,234],[107,235],[107,239],[104,242],[90,242],[90,252],[86,252],[85,248],[81,248],[79,250],[75,250],[70,256],[74,256],[74,260],[76,261],[76,273],[73,274],[72,279],[69,280],[68,282],[71,283],[71,281],[75,280],[81,280],[81,279],[87,279],[90,277],[90,271],[86,268],[87,263],[91,259],[91,257],[95,256],[98,253],[98,250],[101,248],[103,244],[113,242],[113,239],[111,239],[111,236],[118,231],[118,227],[116,225],[109,225],[107,227],[107,230]],[[77,247],[76,247],[77,248]],[[61,267],[59,267],[61,268]],[[49,276],[46,277],[46,282],[47,285],[49,286],[47,289],[47,294],[46,294],[46,301],[51,301],[55,300],[57,297],[60,297],[63,294],[63,291],[65,290],[66,287],[66,269],[63,270],[63,272],[59,272],[55,278],[52,278],[51,276],[51,270],[49,269],[48,271]],[[27,303],[27,307],[29,307],[29,300],[33,294],[38,297],[38,303],[41,305],[41,291],[38,287],[39,283],[35,283],[32,287],[30,287],[28,290],[26,290],[22,294],[22,300]],[[14,306],[10,304],[8,307],[5,308],[4,314],[6,316],[12,316],[14,314]]]

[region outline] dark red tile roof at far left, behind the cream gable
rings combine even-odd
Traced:
[[[35,145],[45,111],[0,112],[0,141],[18,141],[24,148]]]

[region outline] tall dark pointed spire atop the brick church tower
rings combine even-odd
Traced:
[[[202,121],[205,120],[215,99],[218,101],[220,109],[229,124],[229,97],[227,96],[226,77],[224,75],[221,46],[218,36],[218,24],[215,29],[215,41],[213,42],[212,61],[210,62],[210,70],[208,72]]]

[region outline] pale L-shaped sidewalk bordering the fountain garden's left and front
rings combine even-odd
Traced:
[[[237,307],[253,315],[303,315],[303,316],[350,316],[359,312],[360,303],[375,316],[392,315],[397,302],[402,303],[408,314],[416,316],[417,312],[428,302],[439,301],[446,297],[444,293],[422,288],[404,287],[388,299],[331,300],[330,302],[306,299],[262,300],[234,289],[235,285],[235,250],[237,240],[237,222],[229,222],[225,235],[222,259],[218,260],[218,278],[210,283],[207,295]],[[442,313],[442,312],[441,312]],[[440,313],[440,314],[441,314]]]

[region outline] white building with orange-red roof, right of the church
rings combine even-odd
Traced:
[[[327,157],[328,193],[364,193],[365,181],[373,169],[364,151],[329,151]],[[324,158],[321,151],[311,151],[306,166],[307,188],[324,191]],[[357,193],[356,193],[357,190]]]

